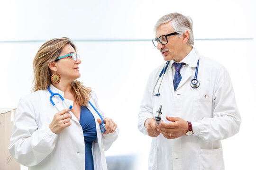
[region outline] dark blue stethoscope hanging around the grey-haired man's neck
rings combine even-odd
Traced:
[[[167,61],[167,62],[165,63],[165,66],[163,67],[162,71],[160,72],[160,74],[159,74],[159,76],[158,76],[158,78],[157,78],[157,81],[156,81],[156,83],[155,83],[155,86],[157,85],[157,83],[158,83],[159,79],[161,78],[161,76],[164,74],[163,77],[162,77],[162,79],[161,79],[161,82],[160,82],[160,85],[159,85],[159,87],[158,87],[158,90],[157,90],[157,93],[156,93],[156,94],[154,94],[154,91],[155,91],[155,86],[154,86],[154,89],[153,89],[153,92],[152,92],[154,96],[159,96],[159,95],[160,95],[159,89],[160,89],[160,87],[161,87],[161,84],[162,84],[163,78],[164,78],[164,76],[165,76],[166,69],[167,69],[168,66],[169,66],[169,63],[170,63],[170,61]],[[198,79],[197,79],[198,65],[199,65],[199,59],[198,59],[198,61],[197,61],[197,65],[196,65],[195,77],[191,80],[191,84],[190,84],[190,86],[191,86],[192,88],[197,88],[197,87],[199,87],[199,85],[200,85],[200,83],[199,83],[199,81],[198,81]]]

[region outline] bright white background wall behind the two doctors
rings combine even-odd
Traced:
[[[228,69],[242,116],[240,132],[222,142],[226,169],[256,168],[254,0],[2,0],[0,7],[0,108],[16,107],[31,93],[39,47],[70,37],[82,58],[80,81],[119,126],[106,155],[137,155],[141,170],[147,169],[151,137],[137,130],[137,114],[149,73],[164,62],[148,40],[163,15],[192,17],[194,47]]]

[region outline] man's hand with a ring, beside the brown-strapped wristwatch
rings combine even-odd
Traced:
[[[157,131],[163,134],[167,139],[175,139],[183,136],[188,131],[188,122],[181,118],[166,116],[166,119],[171,123],[160,123]]]

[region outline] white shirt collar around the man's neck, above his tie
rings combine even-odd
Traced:
[[[192,50],[186,55],[186,57],[181,60],[180,63],[186,63],[189,67],[196,67],[197,60],[199,59],[198,51],[193,47]],[[171,60],[171,66],[175,61]]]

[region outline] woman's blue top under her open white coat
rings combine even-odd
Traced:
[[[80,125],[82,126],[85,145],[85,170],[94,170],[93,157],[91,152],[92,141],[97,139],[95,119],[91,111],[86,107],[81,107]]]

